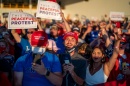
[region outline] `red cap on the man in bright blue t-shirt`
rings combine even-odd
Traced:
[[[48,36],[44,31],[35,31],[31,36],[32,46],[46,46],[48,43]]]

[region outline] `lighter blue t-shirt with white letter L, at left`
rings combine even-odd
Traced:
[[[18,46],[21,48],[21,55],[24,55],[31,51],[31,46],[27,39],[21,38],[21,42],[18,43]]]

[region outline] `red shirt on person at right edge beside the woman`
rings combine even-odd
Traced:
[[[125,55],[126,56],[118,55],[115,66],[109,75],[108,81],[123,80],[129,78],[129,76],[126,76],[122,73],[124,66],[130,68],[130,53],[125,53]]]

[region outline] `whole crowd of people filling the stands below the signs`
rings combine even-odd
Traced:
[[[8,29],[0,19],[0,86],[96,86],[130,80],[130,22],[36,18]],[[5,82],[6,81],[6,82]],[[4,83],[5,82],[5,83]]]

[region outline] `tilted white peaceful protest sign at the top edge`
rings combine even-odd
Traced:
[[[51,1],[38,0],[36,17],[61,20],[59,4]]]

